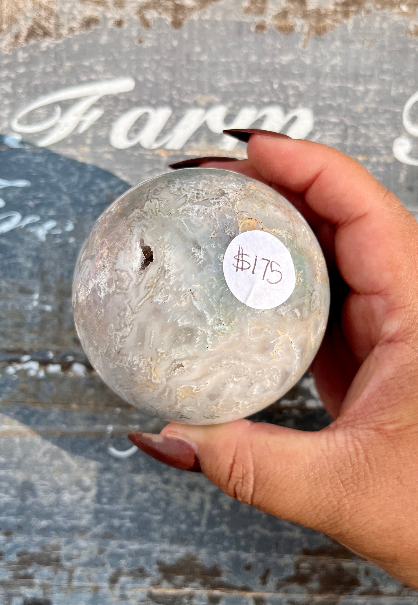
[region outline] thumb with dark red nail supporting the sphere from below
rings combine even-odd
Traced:
[[[241,502],[330,533],[330,509],[342,512],[334,493],[338,487],[333,488],[339,485],[341,491],[335,432],[305,433],[237,420],[210,426],[171,423],[160,436],[132,434],[129,439],[177,468],[196,470],[200,463],[209,480]]]

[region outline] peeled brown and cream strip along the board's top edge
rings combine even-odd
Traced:
[[[76,0],[71,10],[60,10],[57,0],[2,0],[0,36],[4,50],[49,39],[60,41],[68,36],[87,33],[106,22],[121,28],[137,19],[145,30],[155,18],[163,18],[172,28],[182,27],[188,19],[220,0]],[[241,11],[253,21],[257,33],[271,25],[281,34],[299,33],[305,44],[315,36],[334,30],[353,16],[371,11],[402,15],[409,22],[405,34],[418,36],[416,11],[418,0],[334,0],[325,4],[309,0],[282,0],[279,10],[272,0],[247,0]],[[139,43],[142,42],[139,40]]]

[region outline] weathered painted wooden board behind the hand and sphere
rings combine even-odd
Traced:
[[[171,161],[243,157],[224,126],[267,116],[336,146],[418,212],[416,8],[0,2],[1,605],[418,603],[324,535],[204,477],[111,456],[129,431],[163,422],[103,385],[70,304],[77,252],[103,209]],[[128,132],[120,117],[134,108]],[[258,419],[329,422],[309,376]]]

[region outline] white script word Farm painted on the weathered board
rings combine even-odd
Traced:
[[[11,127],[16,132],[27,134],[51,129],[37,144],[40,147],[53,145],[53,143],[70,136],[74,131],[79,134],[85,132],[97,122],[103,115],[104,110],[91,107],[101,97],[131,91],[134,87],[134,80],[131,77],[125,77],[65,88],[42,96],[27,105],[11,121]],[[79,100],[71,105],[65,113],[62,113],[60,106],[56,104],[54,105],[53,114],[47,119],[33,124],[21,122],[31,111],[52,103],[72,99]],[[111,126],[109,140],[116,149],[126,149],[139,144],[145,149],[164,147],[165,149],[177,150],[183,148],[192,135],[203,125],[206,125],[209,131],[221,135],[226,128],[249,128],[258,120],[262,120],[261,128],[280,132],[287,127],[286,134],[297,139],[305,139],[313,129],[313,113],[312,110],[306,107],[299,107],[286,113],[279,105],[268,105],[261,110],[253,106],[247,106],[241,108],[235,117],[232,117],[229,123],[226,123],[228,112],[227,105],[214,105],[207,109],[189,108],[171,131],[161,134],[172,116],[172,108],[169,106],[134,107],[116,119]],[[146,117],[145,124],[139,132],[129,136],[129,132],[137,120],[143,117]],[[158,139],[158,137],[160,138]],[[220,149],[232,151],[235,145],[237,145],[236,140],[222,135],[219,144]]]

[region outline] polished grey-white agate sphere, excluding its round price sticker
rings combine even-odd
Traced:
[[[295,267],[292,293],[273,309],[240,302],[224,279],[227,247],[253,230],[284,244]],[[301,214],[263,183],[211,168],[123,194],[97,219],[74,273],[77,333],[103,381],[188,424],[248,416],[286,393],[321,344],[328,307],[324,257]]]

